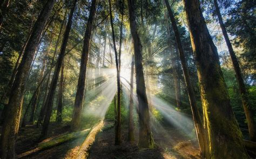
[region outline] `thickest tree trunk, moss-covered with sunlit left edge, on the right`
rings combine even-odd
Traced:
[[[248,158],[242,142],[242,133],[230,104],[217,48],[207,30],[199,1],[183,2],[208,132],[209,154],[206,158]]]

